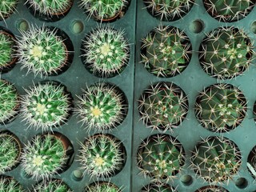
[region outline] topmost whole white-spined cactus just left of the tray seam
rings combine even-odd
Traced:
[[[99,26],[82,42],[83,62],[99,77],[113,77],[124,70],[129,60],[129,44],[125,32],[110,26]]]

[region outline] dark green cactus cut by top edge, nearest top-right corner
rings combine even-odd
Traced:
[[[254,8],[252,0],[204,0],[209,14],[222,22],[234,22],[246,17]]]

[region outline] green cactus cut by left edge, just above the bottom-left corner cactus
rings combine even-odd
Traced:
[[[21,150],[18,138],[6,132],[0,133],[0,174],[12,170],[18,164]]]

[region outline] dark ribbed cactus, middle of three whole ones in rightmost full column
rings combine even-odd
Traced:
[[[198,121],[207,130],[226,132],[240,125],[246,116],[246,98],[230,84],[215,84],[199,94],[195,105]]]

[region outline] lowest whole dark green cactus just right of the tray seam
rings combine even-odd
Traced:
[[[154,134],[138,147],[138,168],[154,181],[169,181],[182,170],[185,155],[176,138],[167,134]]]

